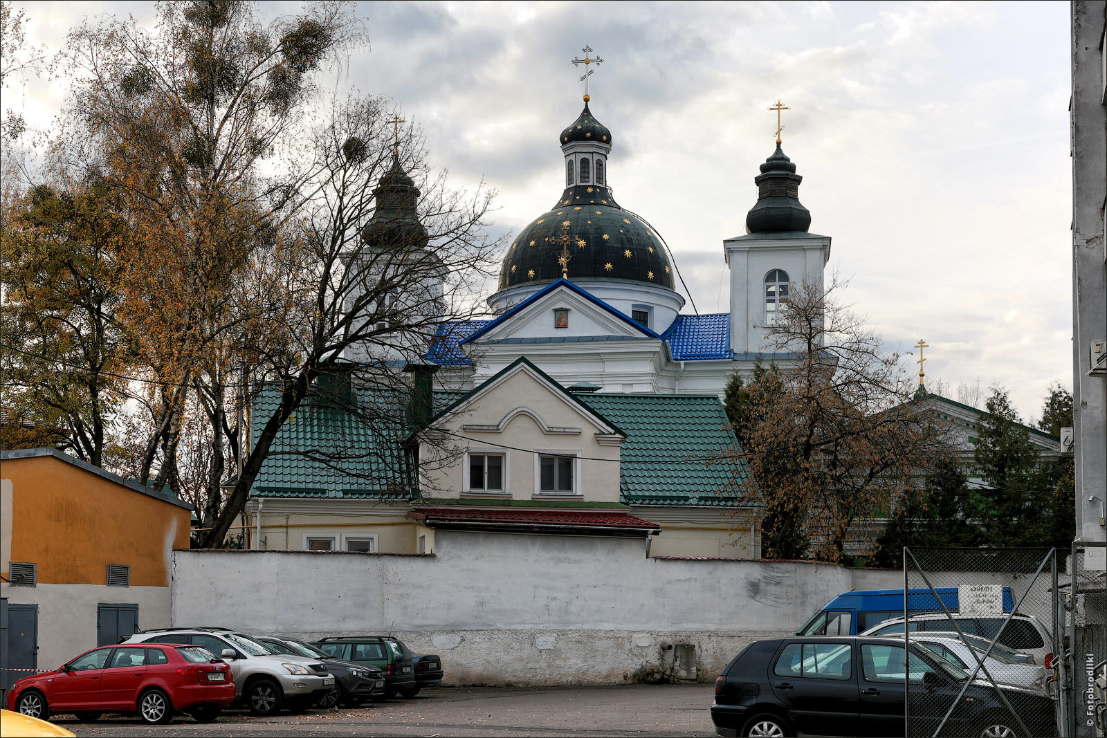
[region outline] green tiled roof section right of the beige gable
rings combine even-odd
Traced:
[[[723,405],[714,395],[581,394],[627,434],[621,499],[628,505],[735,505],[748,478]],[[730,458],[723,458],[731,455]]]

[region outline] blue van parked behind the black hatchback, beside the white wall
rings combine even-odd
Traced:
[[[911,614],[941,612],[942,604],[958,610],[958,588],[939,586],[908,590],[908,610]],[[939,604],[941,597],[941,604]],[[1014,597],[1011,588],[1003,588],[1003,610],[1011,612]],[[796,635],[857,635],[891,617],[903,615],[903,590],[855,590],[844,592],[826,604],[804,624]]]

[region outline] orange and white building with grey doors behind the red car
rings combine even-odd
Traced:
[[[0,687],[168,625],[192,509],[53,448],[0,454]]]

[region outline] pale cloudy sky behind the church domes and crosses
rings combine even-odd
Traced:
[[[14,2],[56,50],[84,15],[147,2]],[[296,2],[263,2],[266,13]],[[499,191],[517,231],[560,195],[561,128],[611,128],[619,201],[665,236],[700,312],[728,310],[723,239],[744,232],[773,150],[804,176],[829,268],[892,349],[930,349],[928,384],[1011,391],[1024,417],[1072,385],[1066,2],[363,2],[371,39],[340,81],[393,97],[455,185]],[[49,126],[64,90],[4,91]],[[692,311],[691,302],[685,308]]]

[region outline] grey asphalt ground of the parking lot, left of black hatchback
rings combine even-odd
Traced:
[[[95,724],[54,719],[77,736],[714,736],[713,685],[521,689],[437,687],[414,699],[358,709],[259,718],[227,710],[218,723],[178,717],[149,726],[105,715]]]

